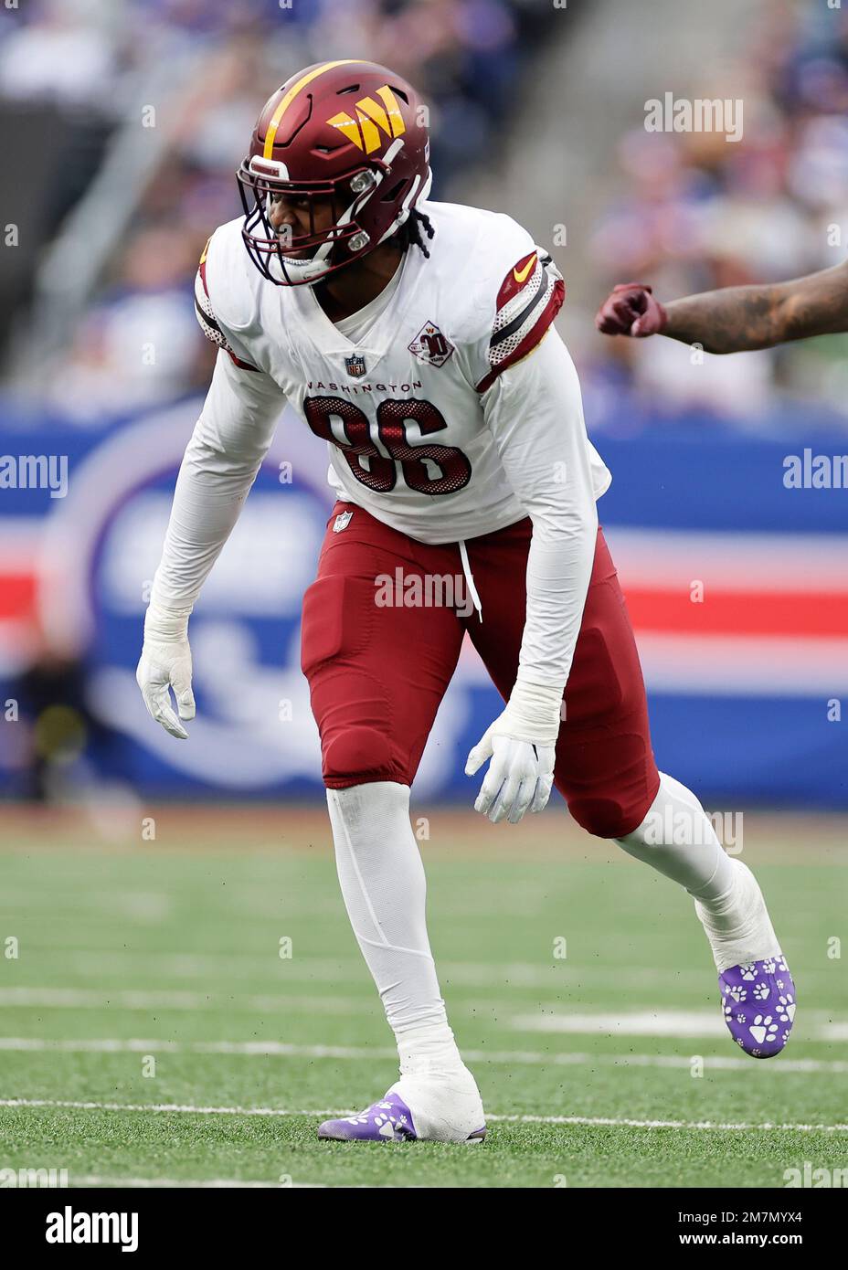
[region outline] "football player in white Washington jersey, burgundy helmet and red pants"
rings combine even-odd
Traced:
[[[564,284],[550,254],[508,216],[429,199],[421,103],[364,61],[283,84],[237,177],[244,217],[215,231],[197,276],[198,318],[220,352],[137,678],[154,719],[184,739],[189,615],[288,401],[329,450],[336,503],[303,599],[302,668],[344,902],[400,1055],[385,1097],[320,1137],[485,1134],[439,991],[409,818],[466,632],[505,701],[468,756],[468,775],[489,765],[477,812],[518,823],[556,784],[579,824],[684,886],[734,1038],[777,1053],[788,1026],[773,1025],[768,999],[793,989],[759,885],[651,752],[595,511],[611,476],[552,326]],[[386,575],[458,578],[470,601],[380,603]]]

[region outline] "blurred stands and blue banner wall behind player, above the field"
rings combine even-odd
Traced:
[[[616,281],[673,296],[843,259],[848,13],[791,0],[744,14],[659,0],[650,23],[613,0],[0,13],[3,448],[69,464],[66,490],[0,489],[0,697],[19,702],[0,728],[3,795],[320,795],[297,643],[328,493],[296,419],[193,618],[189,745],[151,726],[133,667],[213,356],[193,316],[199,251],[237,213],[234,169],[264,97],[352,50],[432,100],[437,197],[510,212],[565,274],[561,330],[614,476],[600,513],[660,766],[722,805],[848,806],[847,495],[783,485],[787,453],[848,448],[844,339],[693,367],[672,342],[592,324]],[[647,133],[644,103],[665,90],[741,97],[744,140]],[[493,709],[468,650],[420,796],[467,798],[460,759]]]

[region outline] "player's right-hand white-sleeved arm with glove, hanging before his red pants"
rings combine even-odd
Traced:
[[[482,399],[518,502],[533,522],[518,674],[503,714],[468,756],[493,761],[475,804],[514,823],[547,803],[562,693],[580,632],[598,531],[580,385],[555,330]]]

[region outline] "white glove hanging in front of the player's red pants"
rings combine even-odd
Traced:
[[[474,808],[493,824],[504,817],[518,824],[527,808],[541,812],[547,805],[561,701],[561,688],[517,681],[503,714],[468,754],[466,776],[491,758]]]

